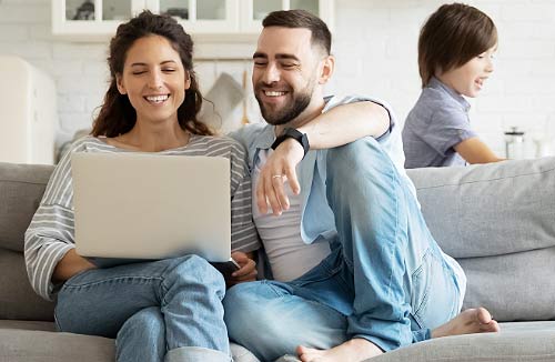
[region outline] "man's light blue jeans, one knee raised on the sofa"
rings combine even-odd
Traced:
[[[410,181],[374,139],[329,150],[325,188],[332,253],[295,281],[244,283],[224,299],[231,340],[261,360],[353,338],[389,351],[428,339],[460,311],[460,267],[444,258]]]

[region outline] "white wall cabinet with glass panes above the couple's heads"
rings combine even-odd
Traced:
[[[333,29],[333,0],[52,0],[52,32],[75,41],[105,40],[149,9],[170,13],[201,42],[253,42],[274,10],[305,9]]]

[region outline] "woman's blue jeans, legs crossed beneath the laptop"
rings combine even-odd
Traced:
[[[195,255],[94,269],[63,284],[56,322],[115,338],[120,362],[231,361],[224,294],[220,272]]]

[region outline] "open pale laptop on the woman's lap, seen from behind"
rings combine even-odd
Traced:
[[[80,255],[230,260],[228,159],[79,152],[71,167]]]

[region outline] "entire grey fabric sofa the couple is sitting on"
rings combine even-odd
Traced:
[[[51,171],[0,163],[0,361],[113,361],[113,340],[54,332],[53,304],[27,279],[23,233]],[[467,274],[465,308],[486,306],[502,332],[431,340],[372,361],[555,361],[555,158],[410,177],[433,234]],[[235,361],[256,361],[232,351]]]

